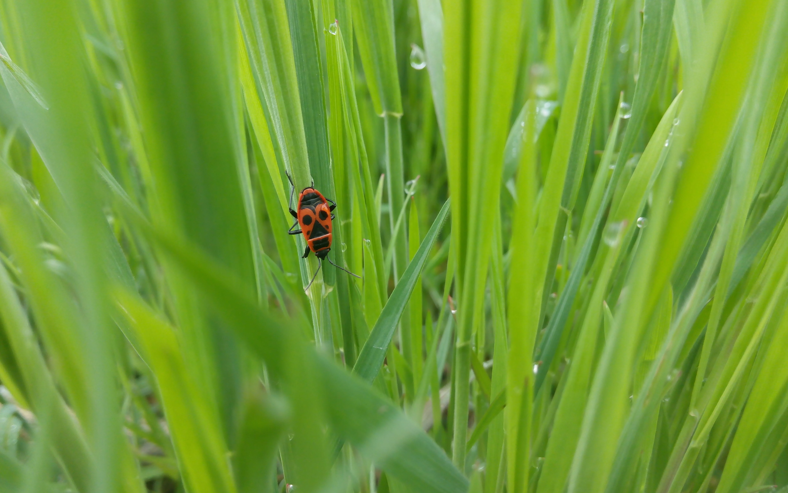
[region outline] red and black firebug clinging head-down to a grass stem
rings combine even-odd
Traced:
[[[331,199],[326,199],[318,189],[314,188],[314,184],[306,189],[301,190],[298,196],[298,211],[293,211],[293,193],[296,191],[296,185],[293,185],[292,178],[288,175],[292,189],[290,192],[290,214],[296,218],[295,224],[290,226],[288,234],[303,234],[304,241],[307,241],[307,249],[304,250],[302,258],[306,259],[309,252],[314,252],[314,256],[318,257],[318,270],[314,271],[312,280],[307,285],[312,286],[314,278],[318,277],[318,271],[322,267],[322,260],[326,259],[331,265],[338,269],[342,269],[349,275],[355,275],[351,271],[344,269],[329,259],[329,252],[331,251],[332,242],[332,222],[334,218],[333,210],[336,208],[336,202]],[[329,204],[330,202],[330,204]],[[296,226],[301,226],[300,230],[293,230]],[[355,277],[360,278],[358,275]]]

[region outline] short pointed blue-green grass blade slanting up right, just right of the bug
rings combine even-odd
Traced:
[[[353,372],[368,382],[373,381],[377,372],[380,371],[388,344],[392,340],[405,304],[407,304],[411,293],[413,293],[429,251],[432,249],[438,233],[440,233],[440,229],[446,220],[448,209],[449,201],[447,200],[438,213],[437,218],[435,218],[433,226],[427,231],[422,245],[418,247],[418,252],[416,252],[410,265],[403,273],[401,282],[394,288],[391,297],[388,298],[385,307],[383,307],[381,315],[377,317],[377,321],[370,332],[370,337],[366,339],[361,351],[359,351],[359,359],[356,360]]]

